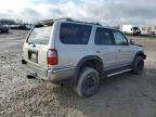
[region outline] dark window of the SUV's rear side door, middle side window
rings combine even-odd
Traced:
[[[113,44],[110,30],[106,28],[98,28],[94,42],[95,44]]]

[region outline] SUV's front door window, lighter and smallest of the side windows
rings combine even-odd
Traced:
[[[128,40],[120,31],[113,31],[113,35],[114,35],[116,44],[119,44],[119,46],[128,44]]]

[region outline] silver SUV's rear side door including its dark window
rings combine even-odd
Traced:
[[[117,49],[113,39],[112,30],[107,28],[96,28],[95,30],[95,51],[103,58],[104,68],[112,69],[116,67]]]

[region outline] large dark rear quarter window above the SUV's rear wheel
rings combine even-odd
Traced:
[[[67,44],[87,44],[92,26],[64,23],[61,25],[61,42]]]

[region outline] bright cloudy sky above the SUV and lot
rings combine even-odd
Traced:
[[[1,0],[0,18],[72,17],[104,25],[156,25],[156,0]]]

